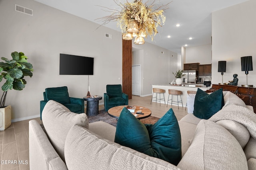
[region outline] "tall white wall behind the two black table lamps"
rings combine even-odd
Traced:
[[[246,84],[241,71],[241,57],[252,56],[254,70],[249,71],[248,84],[256,86],[256,1],[225,8],[212,13],[212,82],[222,82],[218,61],[227,61],[223,82],[238,74],[238,85]]]

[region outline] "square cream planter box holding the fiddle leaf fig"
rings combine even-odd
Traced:
[[[11,125],[12,122],[12,109],[11,106],[0,108],[0,131],[3,131]]]

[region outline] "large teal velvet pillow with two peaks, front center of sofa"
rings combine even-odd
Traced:
[[[154,125],[144,125],[124,107],[116,126],[115,142],[177,165],[181,159],[178,121],[170,109]]]

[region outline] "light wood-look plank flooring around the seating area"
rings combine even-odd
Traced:
[[[146,107],[152,111],[152,116],[159,118],[171,108],[170,104],[168,107],[156,102],[150,104],[150,100],[151,96],[132,96],[129,105]],[[172,106],[178,120],[187,114],[186,104],[183,106],[182,108],[180,105],[179,109],[178,106]],[[99,110],[102,109],[104,105],[99,106]],[[42,123],[40,117],[36,120]],[[0,170],[29,170],[28,121],[30,120],[14,122],[6,130],[0,131]]]

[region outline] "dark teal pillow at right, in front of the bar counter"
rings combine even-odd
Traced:
[[[208,94],[198,88],[196,92],[193,114],[200,119],[209,119],[224,106],[222,88]]]

